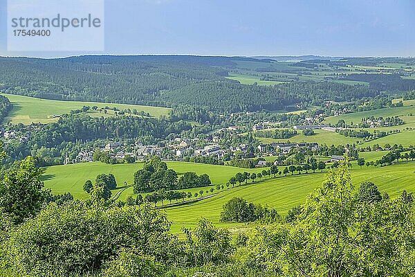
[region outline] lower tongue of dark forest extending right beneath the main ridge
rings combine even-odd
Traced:
[[[376,96],[374,89],[334,82],[292,82],[273,87],[235,82],[203,82],[167,91],[166,102],[188,103],[217,111],[270,111],[287,106],[321,105],[326,99],[349,101]]]

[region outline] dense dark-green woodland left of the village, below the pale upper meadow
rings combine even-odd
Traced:
[[[32,132],[30,138],[25,143],[10,143],[7,147],[9,157],[7,161],[11,163],[17,159],[31,154],[32,151],[39,152],[40,148],[50,150],[42,157],[45,165],[54,165],[55,159],[51,159],[50,153],[59,153],[57,159],[63,163],[66,151],[79,152],[80,145],[85,145],[87,141],[97,141],[106,139],[134,139],[145,143],[156,143],[165,139],[169,134],[179,134],[184,130],[191,129],[190,123],[183,121],[170,122],[166,119],[142,118],[138,116],[114,116],[109,118],[91,118],[86,114],[62,115],[55,123],[40,125],[36,132]],[[12,129],[21,131],[23,125],[15,125]],[[81,143],[80,141],[86,141]],[[89,144],[91,146],[91,144]],[[93,144],[92,144],[93,146]],[[74,153],[73,159],[76,154]],[[95,152],[94,161],[110,163],[107,152]]]

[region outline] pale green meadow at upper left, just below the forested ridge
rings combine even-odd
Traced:
[[[80,101],[59,101],[59,100],[46,100],[33,98],[28,96],[17,96],[12,94],[2,94],[9,98],[12,102],[13,109],[10,116],[7,118],[11,120],[13,124],[23,123],[50,123],[57,120],[53,118],[53,115],[68,114],[73,109],[80,109],[83,106],[98,106],[103,107],[117,107],[118,109],[137,109],[137,111],[148,112],[151,116],[160,117],[167,115],[170,111],[168,108],[163,107],[149,107],[140,105],[127,105],[127,104],[113,104],[102,102],[80,102]],[[90,116],[113,116],[114,111],[109,110],[107,114],[100,113],[99,111],[90,111]]]

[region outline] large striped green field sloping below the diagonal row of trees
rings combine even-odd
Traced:
[[[354,162],[356,163],[356,162]],[[351,171],[354,186],[362,181],[373,181],[379,190],[396,197],[403,190],[415,191],[415,162],[400,163],[384,168],[358,168]],[[320,186],[325,178],[324,173],[302,174],[288,177],[277,177],[239,186],[226,190],[215,197],[194,204],[165,209],[169,220],[172,220],[172,231],[177,233],[183,226],[194,226],[200,217],[206,217],[218,226],[231,229],[246,228],[246,224],[223,224],[219,222],[222,206],[232,197],[243,197],[248,202],[266,204],[277,208],[280,214],[298,204],[302,204],[309,193]]]

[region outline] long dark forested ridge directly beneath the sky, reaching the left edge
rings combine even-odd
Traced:
[[[225,78],[245,57],[80,56],[63,59],[0,57],[0,92],[57,100],[122,102],[216,111],[284,109],[322,100],[353,100],[378,91],[335,82],[270,87]]]

